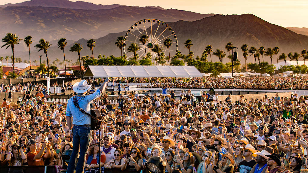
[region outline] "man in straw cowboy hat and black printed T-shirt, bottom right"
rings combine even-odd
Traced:
[[[255,157],[254,153],[257,152],[257,150],[250,144],[247,144],[246,147],[240,147],[243,150],[243,156],[245,157],[245,160],[241,161],[241,163],[238,164],[237,172],[241,173],[249,173],[253,166],[256,164],[256,160],[252,157]]]

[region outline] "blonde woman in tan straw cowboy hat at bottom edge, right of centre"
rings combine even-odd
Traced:
[[[221,155],[221,166],[219,167],[216,165],[216,160],[214,159],[214,157],[211,157],[210,161],[212,163],[209,164],[209,173],[233,173],[234,159],[230,153]]]

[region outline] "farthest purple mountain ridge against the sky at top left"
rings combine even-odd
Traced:
[[[59,7],[59,8],[70,8],[70,9],[99,10],[99,9],[111,9],[121,5],[119,4],[96,5],[91,2],[83,2],[83,1],[72,2],[69,0],[31,0],[16,4],[7,3],[5,5],[0,5],[0,7],[3,8],[7,6],[44,6],[44,7]]]

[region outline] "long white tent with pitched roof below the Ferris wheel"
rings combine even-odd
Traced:
[[[202,77],[195,66],[88,66],[84,77]]]

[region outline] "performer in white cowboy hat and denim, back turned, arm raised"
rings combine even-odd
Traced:
[[[87,155],[87,150],[89,147],[90,137],[91,137],[91,117],[79,111],[79,109],[75,107],[73,99],[77,99],[79,107],[83,108],[83,110],[86,111],[87,113],[90,113],[90,103],[101,95],[101,93],[105,90],[108,81],[109,79],[106,78],[106,80],[99,87],[99,89],[90,95],[85,95],[87,91],[91,88],[91,85],[88,85],[86,80],[83,79],[80,82],[76,82],[73,85],[73,91],[75,91],[77,95],[71,97],[71,99],[68,100],[66,109],[66,119],[67,119],[67,125],[70,129],[69,133],[71,137],[73,132],[75,132],[75,135],[73,137],[74,147],[69,164],[67,166],[67,173],[73,173],[74,171],[83,172],[85,158]],[[73,122],[71,121],[71,117],[73,117]],[[74,124],[74,129],[71,130],[72,124]],[[81,135],[81,134],[88,134],[88,135]],[[80,156],[78,163],[76,164],[78,153]]]

